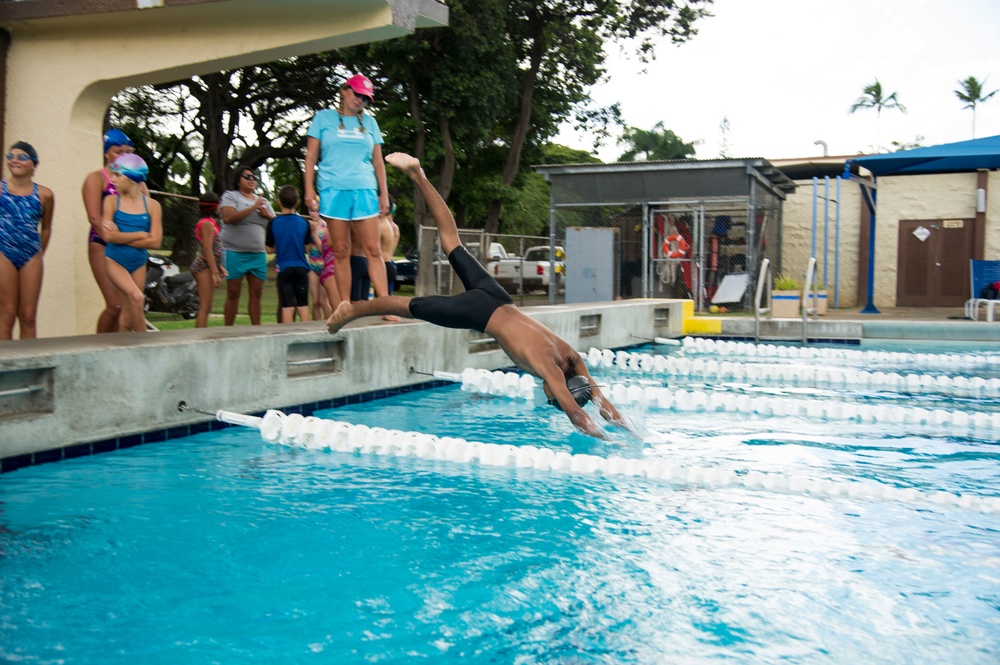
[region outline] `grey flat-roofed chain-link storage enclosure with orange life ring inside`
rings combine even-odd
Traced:
[[[552,186],[555,301],[691,298],[752,304],[761,261],[781,266],[781,203],[794,183],[762,159],[538,167]]]

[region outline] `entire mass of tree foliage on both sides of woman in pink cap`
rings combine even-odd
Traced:
[[[375,83],[384,152],[415,154],[460,223],[533,228],[547,220],[539,215],[547,194],[530,165],[597,161],[548,147],[560,126],[573,120],[608,137],[620,125],[617,105],[598,107],[589,95],[607,77],[608,45],[652,58],[664,38],[695,35],[710,4],[450,0],[446,28],[127,90],[110,120],[131,131],[168,191],[221,192],[241,163],[301,186],[312,114],[335,105],[348,74],[363,72]],[[405,243],[424,206],[392,169],[389,189]]]

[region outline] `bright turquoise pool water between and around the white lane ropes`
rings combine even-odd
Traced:
[[[594,441],[551,407],[457,386],[317,415],[1000,493],[1000,449],[975,435],[624,410],[645,442]],[[1000,516],[955,507],[303,450],[243,428],[0,476],[2,661],[996,663],[998,626]]]

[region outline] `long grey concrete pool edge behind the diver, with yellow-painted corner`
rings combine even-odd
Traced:
[[[522,308],[581,352],[654,337],[752,338],[753,317],[694,316],[691,301],[626,300]],[[1000,342],[1000,322],[962,308],[831,310],[810,339]],[[762,339],[801,339],[799,319],[764,320]],[[309,414],[434,384],[434,370],[499,369],[492,338],[421,321],[363,319],[337,335],[322,322],[0,342],[0,472],[219,426],[193,407]]]

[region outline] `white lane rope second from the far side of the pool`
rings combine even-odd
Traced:
[[[612,368],[620,372],[660,376],[697,377],[715,381],[780,383],[816,388],[862,388],[910,394],[943,394],[956,397],[1000,397],[1000,379],[980,376],[898,374],[869,372],[851,368],[758,363],[728,360],[694,360],[681,356],[661,356],[610,349],[590,349],[584,360],[589,367]]]

